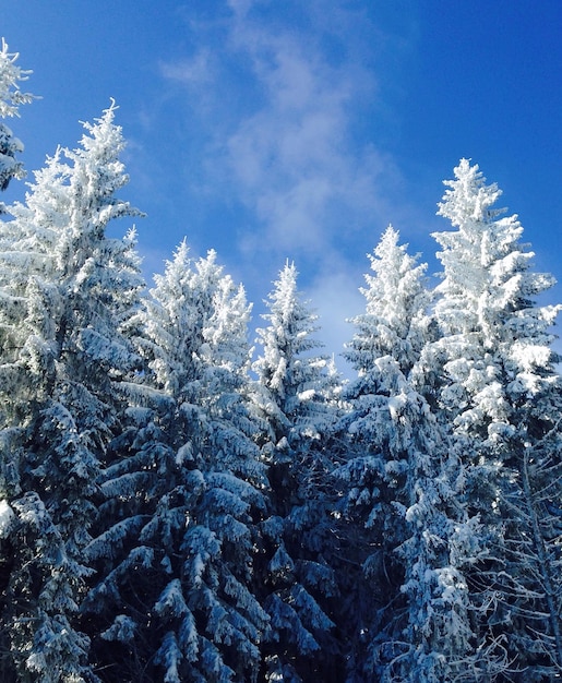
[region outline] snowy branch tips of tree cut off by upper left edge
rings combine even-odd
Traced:
[[[31,103],[33,95],[22,93],[19,83],[26,81],[31,71],[23,71],[15,62],[19,55],[8,51],[8,45],[2,38],[0,49],[0,118],[20,116],[20,105]],[[23,165],[15,158],[23,152],[22,142],[12,131],[0,122],[0,190],[5,190],[12,178],[23,178]],[[0,213],[4,207],[0,204]]]

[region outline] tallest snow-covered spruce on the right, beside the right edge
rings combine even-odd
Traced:
[[[561,307],[537,304],[553,278],[533,272],[517,216],[495,207],[498,187],[466,159],[445,184],[438,213],[453,230],[434,235],[441,338],[425,364],[440,369],[434,396],[463,451],[465,504],[487,538],[486,562],[468,577],[486,608],[478,635],[506,640],[514,679],[552,680],[562,670],[562,464],[549,327]]]

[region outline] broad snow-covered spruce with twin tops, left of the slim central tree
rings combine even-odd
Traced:
[[[268,619],[252,595],[267,482],[246,397],[249,305],[214,252],[194,262],[184,242],[155,280],[140,339],[152,394],[116,443],[124,457],[103,484],[115,525],[91,548],[97,651],[108,681],[135,667],[135,680],[251,681]]]

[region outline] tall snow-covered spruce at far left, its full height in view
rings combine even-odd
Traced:
[[[16,516],[1,619],[21,681],[92,675],[76,626],[84,549],[120,431],[116,385],[139,360],[121,328],[142,287],[132,236],[105,235],[135,213],[116,197],[127,176],[113,117],[111,106],[81,147],[48,159],[2,236],[1,484]]]

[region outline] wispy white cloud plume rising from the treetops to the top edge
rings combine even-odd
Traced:
[[[339,348],[350,334],[344,319],[357,312],[364,253],[394,218],[402,182],[370,120],[379,84],[368,37],[381,35],[346,9],[355,3],[227,4],[219,22],[198,24],[189,59],[163,74],[187,88],[207,127],[206,201],[228,196],[244,207],[236,248],[247,273],[259,255],[262,266],[275,264],[271,280],[294,259]]]

